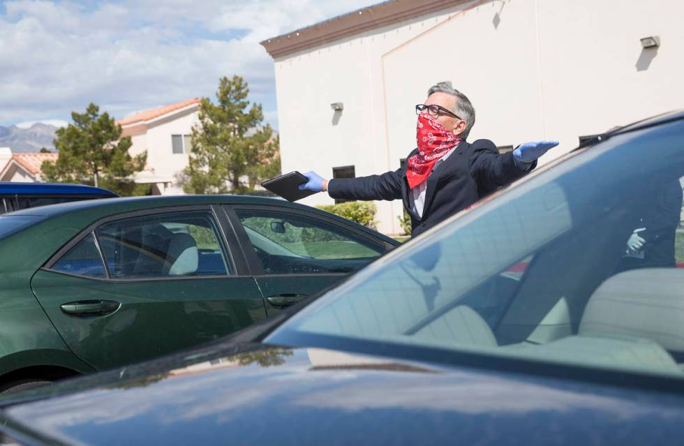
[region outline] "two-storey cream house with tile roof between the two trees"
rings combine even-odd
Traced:
[[[147,151],[145,170],[135,182],[149,184],[152,195],[182,194],[178,175],[189,162],[191,134],[199,124],[200,99],[193,98],[152,110],[144,110],[117,121],[121,136],[130,136],[132,156]]]

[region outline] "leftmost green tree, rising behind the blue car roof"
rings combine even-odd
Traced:
[[[144,195],[149,186],[135,184],[131,176],[140,172],[147,154],[128,154],[131,137],[121,137],[121,126],[107,112],[91,103],[83,114],[72,112],[73,124],[57,129],[54,147],[57,162],[41,166],[47,181],[81,183],[110,189],[119,195]]]

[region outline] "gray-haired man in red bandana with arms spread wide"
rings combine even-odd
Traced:
[[[475,124],[475,108],[447,83],[428,90],[416,105],[417,148],[403,168],[381,175],[326,180],[313,171],[299,188],[328,191],[345,200],[397,200],[411,216],[411,234],[440,223],[461,209],[533,170],[537,158],[557,141],[528,142],[498,154],[490,140],[466,142]]]

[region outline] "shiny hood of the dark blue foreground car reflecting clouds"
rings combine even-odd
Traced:
[[[315,348],[261,348],[3,410],[27,444],[667,444],[684,400]],[[68,384],[68,383],[67,383]]]

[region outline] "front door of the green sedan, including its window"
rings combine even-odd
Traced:
[[[329,288],[394,248],[355,225],[280,206],[226,206],[269,315]]]

